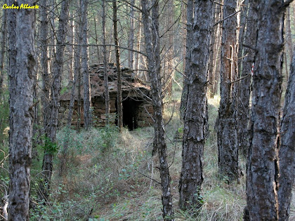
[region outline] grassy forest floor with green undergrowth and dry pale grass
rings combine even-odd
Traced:
[[[203,206],[199,211],[178,209],[178,179],[181,173],[182,133],[179,117],[180,95],[166,102],[167,159],[176,220],[242,220],[246,206],[246,163],[240,182],[227,184],[218,178],[218,150],[214,125],[219,98],[209,99],[209,136],[204,147]],[[55,154],[51,196],[48,203],[38,200],[43,149],[37,147],[32,167],[31,220],[162,220],[161,188],[157,156],[152,157],[153,128],[92,128],[58,133],[60,150],[68,140],[67,170],[58,175],[61,154]],[[4,179],[3,176],[1,179]],[[156,181],[154,181],[156,180]],[[6,179],[7,181],[7,179]],[[198,213],[197,213],[198,212]],[[192,214],[197,214],[192,216]],[[295,220],[295,199],[290,220]]]

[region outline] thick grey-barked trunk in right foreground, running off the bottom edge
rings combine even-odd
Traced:
[[[251,3],[257,4],[259,10],[245,220],[278,220],[277,134],[282,84],[284,1],[254,0]]]

